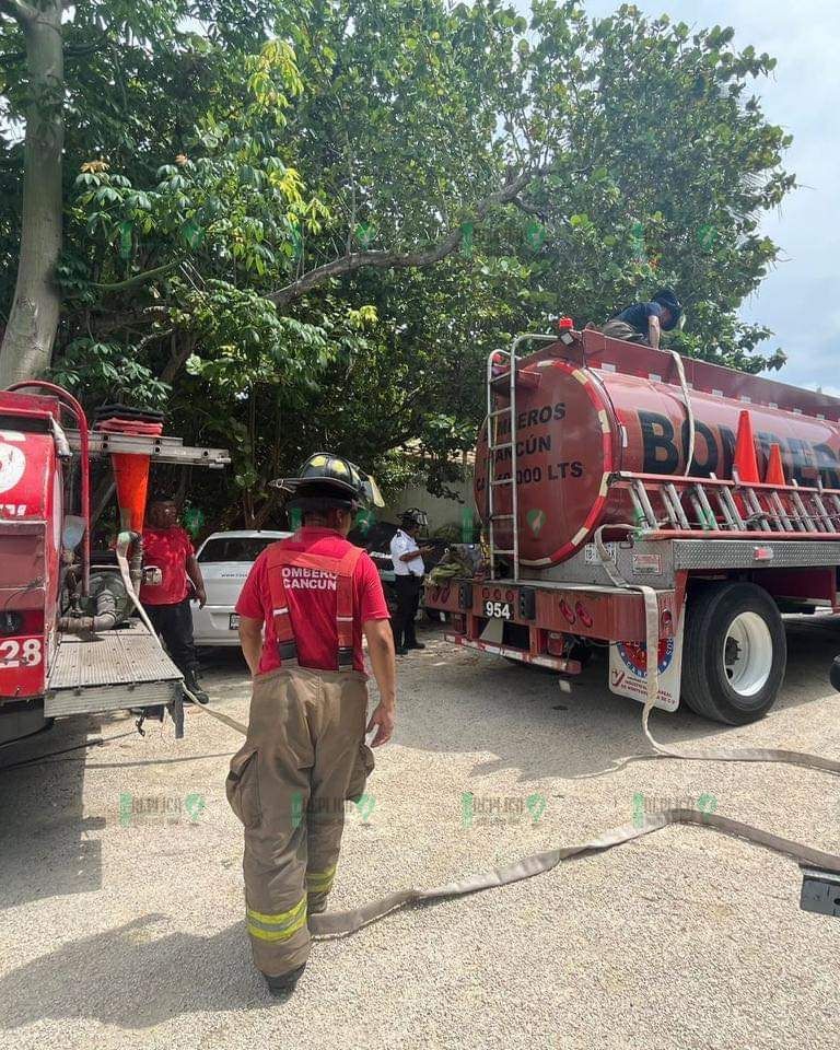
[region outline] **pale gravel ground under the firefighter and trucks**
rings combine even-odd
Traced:
[[[639,792],[675,805],[713,795],[719,813],[840,852],[826,774],[619,766],[643,749],[640,708],[607,692],[603,657],[568,696],[549,675],[427,641],[399,662],[397,736],[377,754],[365,812],[349,814],[334,907],[582,841],[629,822]],[[840,630],[796,620],[789,645],[783,696],[760,724],[679,712],[656,715],[654,734],[840,756],[827,682]],[[220,710],[246,718],[236,654],[214,655],[206,684]],[[74,720],[0,761],[131,728]],[[840,925],[800,911],[793,862],[695,828],[319,943],[296,993],[277,1002],[244,932],[241,831],[223,791],[237,746],[190,711],[182,742],[152,724],[144,738],[0,773],[0,1046],[838,1045]],[[132,798],[167,816],[131,814]]]

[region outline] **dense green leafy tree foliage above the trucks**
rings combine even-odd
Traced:
[[[680,351],[780,366],[737,316],[795,185],[750,94],[773,60],[631,4],[532,8],[78,0],[55,376],[232,446],[232,523],[273,514],[266,481],[318,446],[443,491],[490,350],[662,284]],[[0,20],[7,120],[23,62]],[[10,124],[0,186],[21,163]],[[16,223],[0,196],[0,259]]]

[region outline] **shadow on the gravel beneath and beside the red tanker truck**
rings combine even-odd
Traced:
[[[654,737],[677,747],[737,747],[748,733],[750,746],[775,746],[774,716],[792,708],[802,708],[806,716],[808,703],[835,695],[828,672],[840,653],[840,618],[790,617],[785,627],[788,672],[765,720],[766,733],[721,725],[680,708],[674,714],[654,712]],[[477,774],[518,769],[523,780],[600,775],[619,768],[627,756],[653,757],[641,731],[641,705],[607,688],[606,650],[596,653],[573,679],[571,693],[564,693],[553,675],[483,655],[464,655],[463,650],[458,660],[450,660],[442,633],[427,631],[424,637],[433,642],[432,651],[398,664],[405,668],[398,693],[420,714],[399,723],[399,744],[436,752],[490,751],[495,757],[480,762]],[[465,661],[469,661],[466,666]],[[412,674],[411,663],[418,672],[422,666],[422,677]],[[433,687],[427,689],[427,681]],[[521,728],[514,735],[512,709]]]

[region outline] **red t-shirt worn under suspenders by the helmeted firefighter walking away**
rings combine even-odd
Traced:
[[[327,558],[342,558],[352,546],[331,528],[304,526],[291,539],[280,540],[285,550],[306,551]],[[236,611],[265,625],[259,673],[273,670],[281,664],[277,654],[277,634],[271,614],[271,591],[268,585],[267,548],[252,565],[245,586],[242,588]],[[336,591],[325,586],[335,580],[335,573],[316,570],[284,570],[285,595],[289,599],[289,617],[294,640],[298,643],[298,662],[301,667],[322,670],[336,669],[338,630],[336,626]],[[311,574],[310,574],[311,573]],[[353,572],[353,667],[364,673],[362,651],[362,623],[366,620],[387,620],[389,616],[382,581],[368,553],[362,553]]]

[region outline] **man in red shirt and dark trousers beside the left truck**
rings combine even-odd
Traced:
[[[149,525],[143,529],[143,561],[156,565],[160,584],[144,583],[140,600],[155,631],[163,639],[172,662],[184,675],[184,684],[199,703],[210,699],[198,682],[198,657],[192,641],[190,581],[198,604],[207,602],[205,581],[188,533],[178,525],[174,500],[160,497],[149,504]]]

